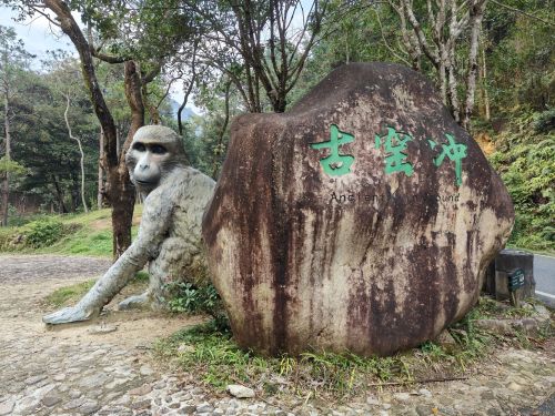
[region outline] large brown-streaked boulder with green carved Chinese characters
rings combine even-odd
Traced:
[[[513,219],[426,79],[356,63],[234,121],[203,236],[241,346],[386,355],[468,312]]]

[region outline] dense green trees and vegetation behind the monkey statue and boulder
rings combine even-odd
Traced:
[[[29,214],[121,204],[110,192],[128,179],[111,172],[140,123],[178,130],[191,164],[218,177],[234,115],[286,110],[337,65],[380,60],[432,79],[483,145],[515,202],[509,243],[555,250],[551,0],[457,0],[456,13],[442,9],[445,2],[420,0],[331,0],[312,8],[296,1],[2,2],[21,19],[47,9],[60,18],[63,4],[78,12],[90,29],[83,39],[100,84],[93,94],[91,73],[83,83],[82,51],[79,59],[62,52],[32,57],[13,30],[1,28],[0,180],[8,224],[21,224]],[[61,29],[73,40],[75,28]],[[132,77],[140,80],[134,92]],[[172,89],[183,89],[182,102],[171,98]],[[101,125],[110,123],[99,115],[99,93],[117,136],[107,145],[113,139],[107,134],[104,146]],[[193,97],[202,112],[186,116]],[[68,232],[49,226],[49,233]]]

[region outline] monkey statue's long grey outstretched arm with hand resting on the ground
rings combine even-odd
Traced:
[[[163,197],[163,192],[153,191],[144,201],[139,235],[133,244],[75,306],[46,315],[42,321],[47,324],[64,324],[87,321],[99,315],[102,307],[110,303],[135,273],[141,271],[149,260],[158,256],[158,248],[170,226],[172,206],[173,204]]]

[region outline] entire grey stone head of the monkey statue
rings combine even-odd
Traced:
[[[133,136],[125,164],[139,191],[149,193],[175,168],[186,165],[181,138],[169,128],[144,125]]]

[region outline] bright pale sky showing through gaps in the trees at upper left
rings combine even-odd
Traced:
[[[38,69],[39,61],[47,57],[47,51],[49,50],[61,49],[77,57],[75,48],[69,38],[61,33],[58,28],[51,27],[44,17],[27,19],[27,21],[19,23],[13,20],[17,16],[17,12],[12,11],[10,8],[0,6],[0,24],[12,27],[18,37],[26,43],[26,50],[37,55],[36,69]],[[81,21],[79,14],[73,13],[73,17],[78,22]],[[183,97],[182,87],[175,83],[175,87],[172,88],[171,91],[171,98],[181,103]],[[188,104],[186,106],[196,114],[202,113],[202,110],[196,108],[194,103]]]

